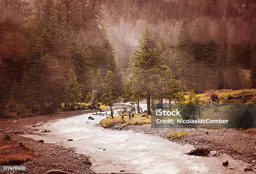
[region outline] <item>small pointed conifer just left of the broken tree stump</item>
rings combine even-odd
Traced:
[[[79,99],[82,97],[82,92],[73,68],[69,69],[65,93],[68,103],[71,103],[70,110],[74,110],[74,102],[79,101]]]

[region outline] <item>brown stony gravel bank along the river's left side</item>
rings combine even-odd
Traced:
[[[120,109],[124,106],[126,105],[120,103],[114,104],[113,109]],[[104,112],[108,110],[109,109],[102,109]],[[53,169],[59,169],[74,174],[94,173],[92,169],[90,169],[90,157],[77,154],[75,149],[62,147],[57,144],[37,142],[33,139],[22,137],[20,134],[37,134],[40,136],[41,133],[38,132],[40,126],[47,122],[98,111],[99,110],[57,112],[56,114],[36,115],[33,117],[0,119],[0,137],[3,137],[5,133],[9,133],[12,135],[11,139],[17,142],[23,142],[23,144],[33,149],[35,159],[30,159],[22,164],[27,166],[28,173],[43,174]],[[47,132],[44,132],[44,134],[47,134]]]

